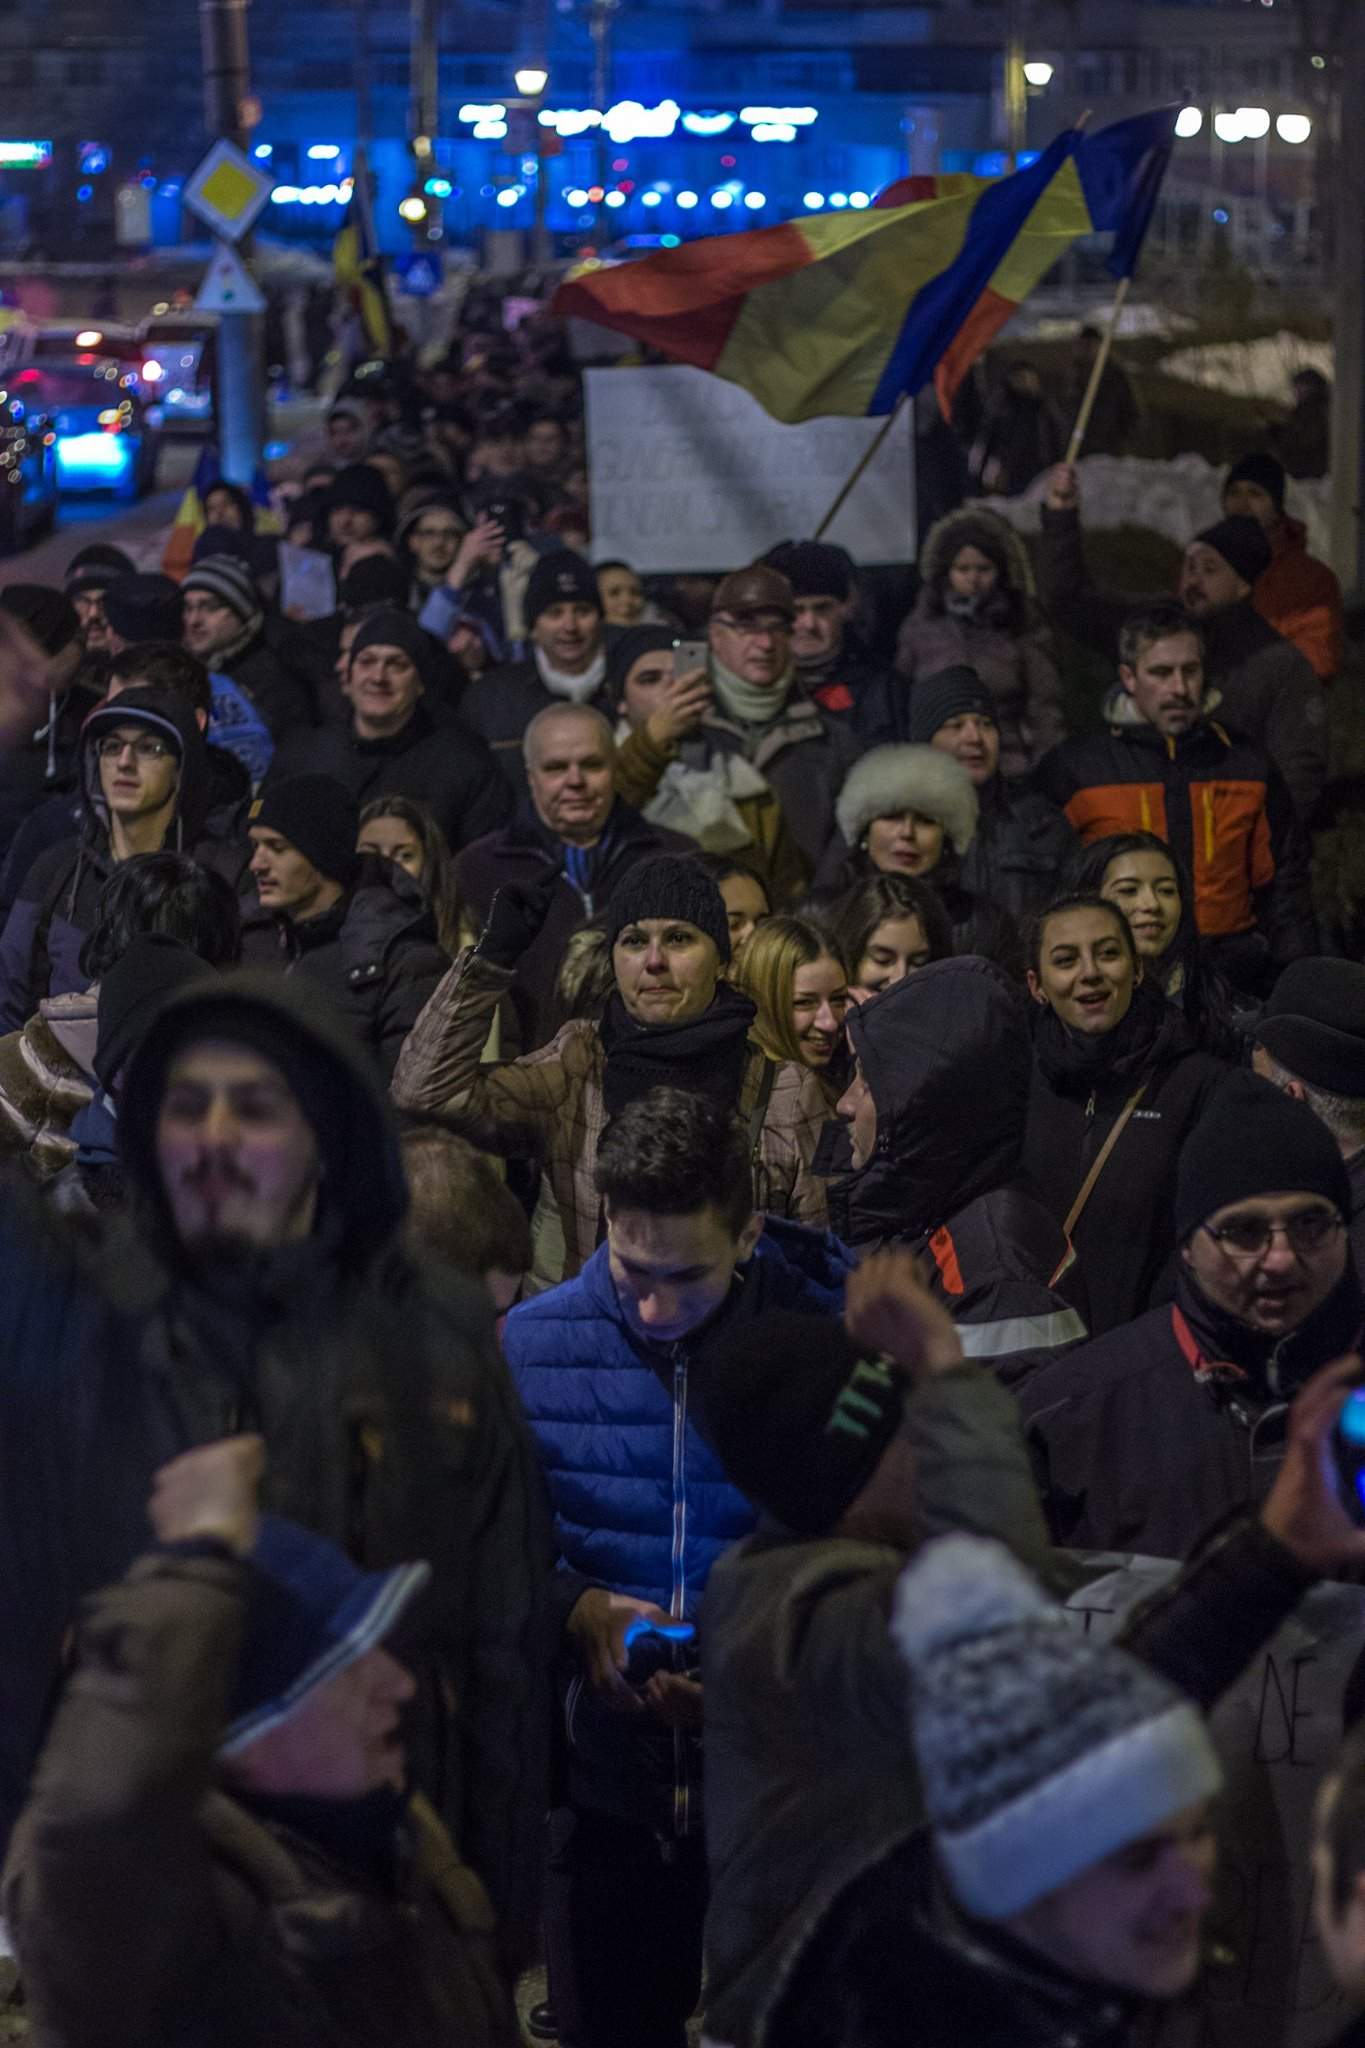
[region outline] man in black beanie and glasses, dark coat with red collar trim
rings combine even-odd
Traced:
[[[1351,1184],[1326,1126],[1232,1075],[1181,1157],[1175,1300],[1038,1366],[1021,1384],[1052,1536],[1185,1556],[1261,1501],[1300,1386],[1361,1348]]]

